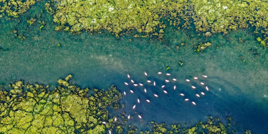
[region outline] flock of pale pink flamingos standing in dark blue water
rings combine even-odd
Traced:
[[[157,74],[158,74],[158,75],[162,75],[162,72],[158,72]],[[144,72],[144,75],[145,75],[146,77],[148,76],[146,72]],[[171,76],[171,74],[169,74],[169,73],[166,73],[166,75],[167,75],[167,76]],[[129,74],[127,74],[127,77],[130,79]],[[202,77],[207,78],[207,76],[205,76],[205,75],[202,75]],[[196,79],[198,79],[198,78],[197,78],[197,77],[193,77],[193,80],[196,80]],[[170,81],[177,81],[177,79],[175,79],[175,78],[173,78],[173,79],[165,79],[165,83],[169,83]],[[190,82],[189,79],[186,79],[185,81],[186,81],[186,82]],[[156,82],[155,82],[155,81],[147,80],[146,82],[149,83],[149,84],[153,84],[153,86],[156,86]],[[125,85],[126,85],[126,86],[130,86],[131,84],[133,84],[133,86],[141,86],[141,87],[143,87],[143,84],[142,84],[142,83],[135,83],[134,80],[132,80],[132,79],[130,79],[130,82],[129,82],[129,83],[125,82]],[[201,84],[201,85],[205,85],[203,82],[201,82],[200,84]],[[168,92],[167,92],[166,90],[164,90],[164,87],[165,87],[165,85],[162,85],[162,86],[161,86],[161,88],[163,89],[163,92],[164,92],[165,94],[168,94]],[[191,86],[191,87],[192,87],[193,90],[196,89],[195,86]],[[173,87],[173,89],[176,90],[176,85]],[[207,91],[209,90],[207,86],[205,86],[205,89],[206,89]],[[146,88],[144,88],[144,92],[147,93]],[[124,91],[123,93],[124,93],[124,95],[126,95],[126,91]],[[130,90],[130,93],[134,93],[133,90]],[[180,95],[180,96],[185,96],[183,93],[180,93],[179,95]],[[205,95],[205,93],[200,92],[200,95]],[[195,96],[196,96],[196,97],[200,97],[200,95],[199,95],[199,94],[196,94]],[[156,93],[153,93],[153,96],[154,96],[154,97],[158,97],[158,95],[157,95]],[[184,101],[189,101],[189,99],[188,99],[188,98],[185,98]],[[139,98],[137,98],[137,102],[140,103]],[[150,103],[150,100],[146,100],[146,102]],[[193,105],[196,105],[196,103],[195,103],[194,101],[192,101],[192,104],[193,104]],[[135,104],[132,108],[135,109],[135,108],[136,108],[136,104]],[[139,117],[139,118],[142,118],[141,115],[138,115],[138,117]],[[130,115],[128,116],[128,119],[130,119]],[[116,121],[116,120],[117,120],[117,118],[115,117],[114,121]],[[103,123],[103,124],[106,124],[106,122],[102,122],[102,123]],[[109,130],[109,133],[111,134],[111,131],[110,131],[110,130]]]

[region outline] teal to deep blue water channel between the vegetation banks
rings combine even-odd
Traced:
[[[114,84],[119,90],[127,91],[128,95],[122,99],[124,110],[135,117],[128,123],[142,128],[151,120],[189,124],[213,115],[219,116],[220,120],[231,116],[241,123],[242,131],[247,128],[256,133],[268,132],[268,97],[264,97],[268,96],[268,50],[259,46],[250,30],[204,38],[197,36],[193,28],[178,31],[168,27],[165,42],[128,36],[116,39],[110,34],[74,36],[54,31],[52,16],[44,12],[40,18],[47,25],[40,32],[40,24],[30,26],[26,20],[41,14],[42,4],[44,2],[23,14],[20,22],[19,19],[0,18],[0,84],[23,79],[28,83],[51,84],[53,87],[58,79],[72,74],[74,82],[82,87],[107,88]],[[14,29],[23,33],[26,40],[14,37]],[[243,42],[238,41],[239,37]],[[195,44],[207,41],[212,43],[210,48],[202,54],[194,52]],[[58,43],[61,47],[57,46]],[[180,46],[181,43],[185,46]],[[251,49],[254,51],[249,51]],[[245,63],[240,56],[244,57]],[[185,64],[180,67],[178,60]],[[171,67],[168,71],[165,70],[167,66]],[[175,83],[166,87],[167,95],[154,86],[145,85],[147,94],[143,88],[125,86],[124,82],[129,80],[126,74],[137,82],[146,83],[144,71],[149,74],[148,79],[157,83],[167,79],[157,72],[171,73],[172,78],[178,79],[177,90],[172,90]],[[197,98],[192,95],[197,91],[190,90],[190,86],[203,87],[198,86],[198,81],[190,84],[185,79],[192,80],[193,76],[202,75],[209,76],[203,82],[210,91],[205,97]],[[134,91],[133,95],[129,94],[129,89]],[[197,105],[185,103],[178,95],[182,92]],[[159,97],[153,97],[153,93]],[[142,100],[140,104],[136,104],[137,98]],[[146,103],[146,99],[151,103]],[[134,104],[138,114],[143,114],[141,122],[132,110]]]

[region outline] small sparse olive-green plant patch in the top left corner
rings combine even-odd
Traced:
[[[0,13],[16,18],[30,9],[30,6],[37,1],[41,0],[0,0]]]

